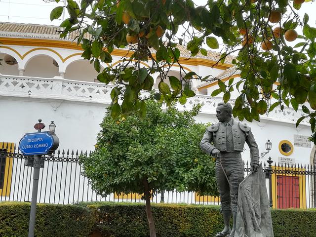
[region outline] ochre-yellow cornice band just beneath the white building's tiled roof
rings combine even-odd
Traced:
[[[53,48],[67,48],[67,49],[75,49],[75,50],[82,51],[81,45],[77,45],[77,43],[75,42],[63,41],[63,40],[42,40],[42,39],[0,37],[0,42],[4,45],[41,46],[41,47],[53,47]],[[5,46],[1,46],[1,47],[5,47]],[[130,57],[132,55],[132,52],[126,51],[124,49],[116,48],[113,50],[111,54],[114,56],[120,56],[120,57]],[[153,54],[153,56],[155,57],[156,54]],[[68,57],[66,57],[63,60],[66,61]],[[214,68],[222,69],[222,70],[226,70],[233,66],[231,64],[227,64],[227,63],[222,64],[214,60],[205,59],[205,58],[180,57],[179,62],[185,65],[214,67]]]

